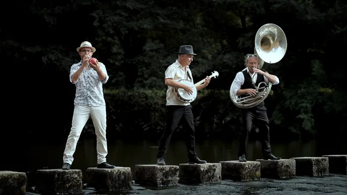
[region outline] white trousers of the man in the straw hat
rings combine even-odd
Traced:
[[[93,120],[95,134],[97,136],[98,164],[106,162],[107,141],[106,141],[106,106],[75,106],[73,110],[72,126],[67,137],[63,162],[72,164],[73,153],[76,150],[77,141],[89,117]]]

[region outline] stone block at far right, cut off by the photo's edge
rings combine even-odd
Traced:
[[[323,155],[329,158],[329,173],[347,175],[347,155]]]

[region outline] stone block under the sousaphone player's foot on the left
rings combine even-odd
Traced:
[[[231,160],[220,163],[222,164],[222,179],[233,181],[260,179],[260,162]]]

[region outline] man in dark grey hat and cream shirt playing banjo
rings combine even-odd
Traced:
[[[167,90],[167,128],[165,129],[158,148],[157,153],[157,164],[165,165],[165,155],[168,150],[170,139],[173,131],[181,121],[182,126],[185,130],[186,146],[188,150],[188,163],[190,164],[204,164],[205,160],[200,160],[195,152],[195,129],[194,129],[194,118],[191,110],[190,103],[183,103],[179,101],[174,95],[174,88],[181,88],[188,94],[192,94],[193,90],[191,87],[180,84],[177,81],[181,79],[187,79],[193,82],[191,71],[189,69],[190,63],[193,61],[193,56],[196,55],[193,52],[192,46],[181,46],[178,52],[178,59],[171,64],[165,71],[165,85],[168,86]],[[209,84],[210,78],[206,77],[205,82],[201,85],[196,86],[196,90],[206,88]],[[183,119],[183,120],[181,120]]]

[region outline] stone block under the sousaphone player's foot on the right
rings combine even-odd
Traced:
[[[280,179],[296,176],[294,159],[258,159],[256,161],[260,162],[260,173],[262,178]]]

